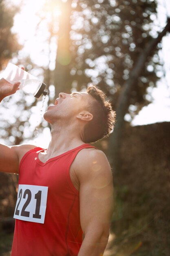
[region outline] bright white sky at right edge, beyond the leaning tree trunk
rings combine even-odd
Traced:
[[[166,17],[170,17],[170,0],[158,1],[158,24],[165,27]],[[149,94],[152,95],[153,102],[144,107],[133,121],[132,125],[153,124],[156,122],[170,121],[170,34],[168,33],[162,40],[161,57],[164,61],[165,77],[157,83]],[[129,117],[127,116],[127,119]]]

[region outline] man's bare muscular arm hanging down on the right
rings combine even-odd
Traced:
[[[113,213],[112,173],[106,156],[99,150],[82,150],[78,162],[80,222],[84,233],[78,256],[100,256],[108,242]]]

